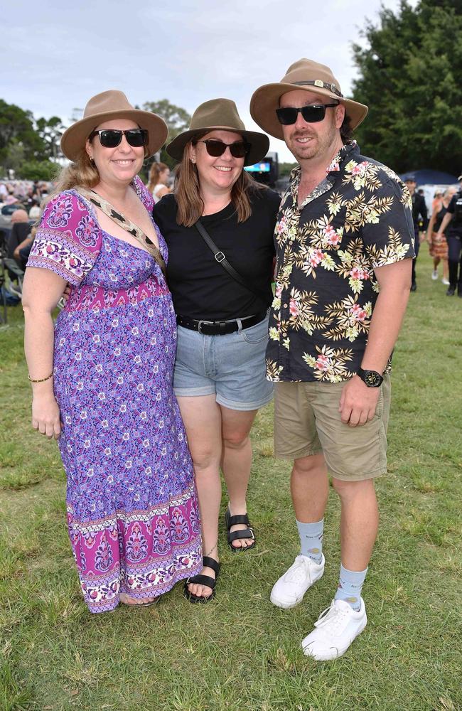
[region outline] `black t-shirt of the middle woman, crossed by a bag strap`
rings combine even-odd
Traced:
[[[174,195],[163,196],[153,215],[168,246],[167,281],[175,311],[204,321],[258,314],[272,301],[273,232],[280,197],[269,188],[252,192],[252,215],[243,223],[230,203],[201,218],[217,247],[246,282],[267,294],[263,300],[235,281],[214,259],[198,230],[176,223]]]

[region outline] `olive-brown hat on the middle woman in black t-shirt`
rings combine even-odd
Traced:
[[[250,150],[244,159],[245,166],[259,163],[268,152],[269,138],[259,131],[247,131],[237,113],[235,102],[230,99],[211,99],[198,106],[193,113],[188,131],[178,134],[168,144],[166,151],[176,161],[181,161],[185,146],[190,139],[214,130],[232,131],[240,134],[247,141]]]

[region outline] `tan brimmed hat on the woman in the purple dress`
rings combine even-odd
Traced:
[[[135,109],[124,92],[110,89],[93,96],[85,107],[83,118],[72,124],[61,137],[61,150],[70,161],[75,161],[85,146],[90,133],[104,121],[130,119],[148,131],[148,156],[153,156],[167,140],[166,122],[151,111]],[[146,156],[146,157],[148,157]]]

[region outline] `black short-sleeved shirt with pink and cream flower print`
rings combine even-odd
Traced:
[[[299,208],[297,166],[281,201],[269,380],[338,383],[355,375],[379,292],[374,269],[414,257],[411,198],[393,171],[353,142],[326,173]]]

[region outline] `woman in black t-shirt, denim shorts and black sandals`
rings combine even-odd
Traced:
[[[228,544],[233,552],[255,545],[246,504],[249,432],[258,408],[272,397],[264,353],[279,195],[254,183],[243,168],[262,160],[268,147],[264,134],[245,130],[234,102],[205,102],[190,129],[167,147],[181,164],[174,193],[154,207],[168,245],[167,278],[178,323],[173,386],[202,519],[204,565],[200,575],[186,580],[190,602],[208,602],[215,594],[220,466],[229,495]],[[216,249],[195,227],[198,220]],[[223,255],[242,281],[220,264]]]

